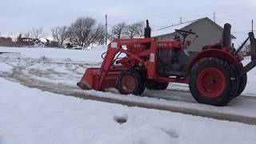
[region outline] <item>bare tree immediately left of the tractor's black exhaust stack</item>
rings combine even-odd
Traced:
[[[126,30],[124,34],[126,38],[134,38],[136,36],[142,37],[144,31],[144,23],[143,22],[136,22],[132,25],[126,26]]]

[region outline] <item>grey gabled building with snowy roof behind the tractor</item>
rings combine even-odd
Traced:
[[[194,35],[190,35],[186,38],[192,42],[194,41],[194,43],[187,48],[187,51],[192,55],[198,54],[198,52],[202,50],[203,46],[219,42],[222,38],[223,31],[222,26],[213,22],[210,18],[200,18],[191,22],[184,22],[182,24],[169,26],[162,30],[155,30],[151,35],[158,40],[171,40],[174,39],[175,35],[179,35],[175,32],[175,29],[192,30],[198,34],[198,38],[195,41]],[[182,38],[182,36],[180,36],[180,38]],[[234,39],[235,37],[231,35],[231,38]]]

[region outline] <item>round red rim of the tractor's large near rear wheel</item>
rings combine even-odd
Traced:
[[[221,70],[209,67],[198,74],[198,90],[206,98],[217,98],[226,86],[226,80]]]

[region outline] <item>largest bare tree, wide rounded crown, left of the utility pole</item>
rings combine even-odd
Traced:
[[[97,26],[94,18],[78,18],[69,27],[70,42],[78,46],[89,47],[95,42],[101,26]]]

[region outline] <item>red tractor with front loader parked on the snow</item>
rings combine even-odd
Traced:
[[[182,38],[158,41],[150,38],[146,21],[145,38],[114,39],[110,42],[100,68],[88,68],[78,86],[84,90],[104,90],[114,87],[120,94],[141,95],[145,88],[166,90],[170,82],[187,83],[199,103],[225,106],[246,87],[246,73],[256,65],[254,33],[235,50],[230,46],[230,24],[224,26],[222,41],[204,46],[191,58],[186,53],[194,32],[176,30]],[[242,65],[238,52],[250,39],[251,62]],[[120,55],[125,57],[119,58]]]

